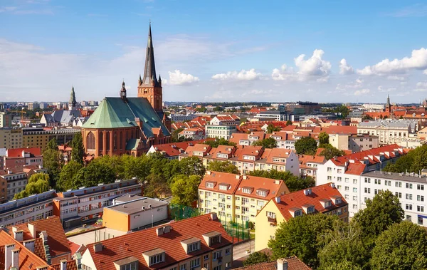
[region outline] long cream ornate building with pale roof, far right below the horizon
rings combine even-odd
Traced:
[[[369,134],[379,137],[379,145],[390,145],[415,135],[415,120],[375,120],[361,122],[357,126],[358,134]]]

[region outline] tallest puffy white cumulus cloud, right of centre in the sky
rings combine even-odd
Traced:
[[[331,63],[322,59],[325,52],[316,49],[313,55],[305,59],[305,54],[301,54],[294,59],[297,71],[283,65],[280,69],[273,69],[272,78],[276,81],[307,81],[315,79],[317,81],[327,81],[330,75]]]

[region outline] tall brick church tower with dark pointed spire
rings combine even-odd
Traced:
[[[151,33],[151,23],[148,31],[147,52],[145,55],[144,76],[139,75],[138,98],[147,98],[152,108],[159,113],[163,111],[162,78],[157,79],[156,66],[154,64],[154,49]]]

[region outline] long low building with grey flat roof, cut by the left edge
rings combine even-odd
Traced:
[[[0,204],[0,224],[9,227],[51,217],[55,194],[55,190],[52,189]]]

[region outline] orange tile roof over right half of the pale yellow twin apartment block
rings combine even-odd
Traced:
[[[270,200],[274,197],[278,197],[282,194],[279,194],[279,190],[285,186],[285,191],[289,193],[288,187],[286,187],[285,182],[283,180],[274,180],[265,177],[257,177],[250,175],[243,175],[241,182],[238,184],[236,192],[234,194],[243,196],[243,197],[252,197],[256,199],[266,199]],[[244,188],[249,188],[251,193],[243,192]],[[258,194],[259,191],[268,192],[267,196],[260,196]],[[218,192],[222,192],[218,191]]]

